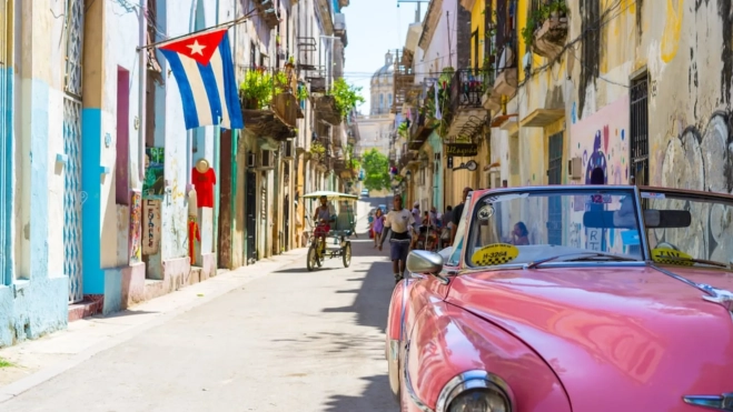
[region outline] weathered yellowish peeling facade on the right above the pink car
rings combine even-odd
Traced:
[[[533,54],[532,69],[541,70],[519,88],[509,108],[513,104],[517,108],[519,119],[535,109],[564,109],[566,129],[571,129],[564,150],[565,160],[568,160],[577,155],[577,144],[583,144],[581,140],[587,138],[575,135],[574,124],[596,119],[594,114],[610,105],[615,109],[604,118],[613,117],[616,124],[628,122],[628,107],[624,109],[617,102],[628,99],[632,76],[646,70],[651,153],[648,183],[731,192],[730,154],[720,149],[723,142],[733,141],[730,138],[733,133],[722,127],[730,113],[732,97],[731,1],[602,1],[597,11],[581,10],[576,2],[568,4],[566,42],[578,39],[584,29],[597,28],[593,16],[603,22],[597,30],[598,36],[586,36],[582,41],[575,41],[574,47],[552,61]],[[526,24],[527,7],[528,1],[519,1],[519,30]],[[526,47],[521,37],[518,42],[522,66]],[[519,81],[524,78],[521,68]],[[551,98],[552,94],[556,98]],[[603,123],[592,122],[594,127]],[[630,138],[630,132],[621,134],[621,125],[617,128],[618,135],[613,127],[610,130],[608,144],[627,152],[628,142],[624,139]],[[603,129],[601,131],[603,133]],[[707,133],[720,134],[719,142],[705,143]],[[546,128],[521,128],[518,158],[519,181],[523,184],[546,183],[543,177],[547,169],[548,134]],[[696,143],[691,134],[700,135]],[[590,142],[585,145],[590,147]],[[707,145],[716,151],[710,151],[713,148]],[[628,154],[625,155],[627,159]],[[671,167],[675,159],[675,164],[683,164],[678,161],[683,157],[700,159],[683,163],[691,164],[690,168],[701,173],[693,178],[686,165]],[[623,174],[620,175],[625,178],[627,164],[623,155],[621,161]],[[567,170],[563,174],[566,175]]]

